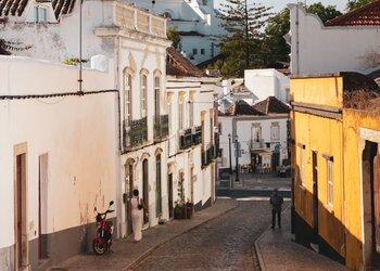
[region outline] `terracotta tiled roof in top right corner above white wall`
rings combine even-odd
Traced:
[[[355,9],[333,20],[327,21],[326,26],[379,26],[380,0]]]

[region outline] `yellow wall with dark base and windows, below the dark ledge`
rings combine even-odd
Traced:
[[[294,186],[295,210],[313,227],[313,152],[317,153],[318,167],[318,232],[334,250],[344,257],[344,225],[342,207],[342,122],[304,113],[294,113],[296,182]],[[301,147],[305,145],[304,186],[301,184]],[[333,205],[327,199],[327,159],[333,157]],[[333,231],[331,229],[334,229]]]

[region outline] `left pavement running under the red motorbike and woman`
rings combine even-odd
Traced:
[[[77,255],[50,270],[131,270],[139,261],[168,241],[232,210],[237,206],[238,202],[236,201],[218,198],[212,207],[195,212],[192,219],[175,219],[143,231],[142,240],[139,243],[134,243],[132,236],[116,240],[112,246],[113,253],[102,256]]]

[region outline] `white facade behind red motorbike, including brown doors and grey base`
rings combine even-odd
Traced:
[[[117,186],[112,73],[0,56],[0,270],[46,269],[87,249]],[[116,218],[110,216],[114,222]]]

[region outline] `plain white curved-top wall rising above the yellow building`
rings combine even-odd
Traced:
[[[289,4],[291,33],[291,73],[326,74],[360,72],[372,66],[370,59],[380,53],[379,27],[325,27],[314,14]]]

